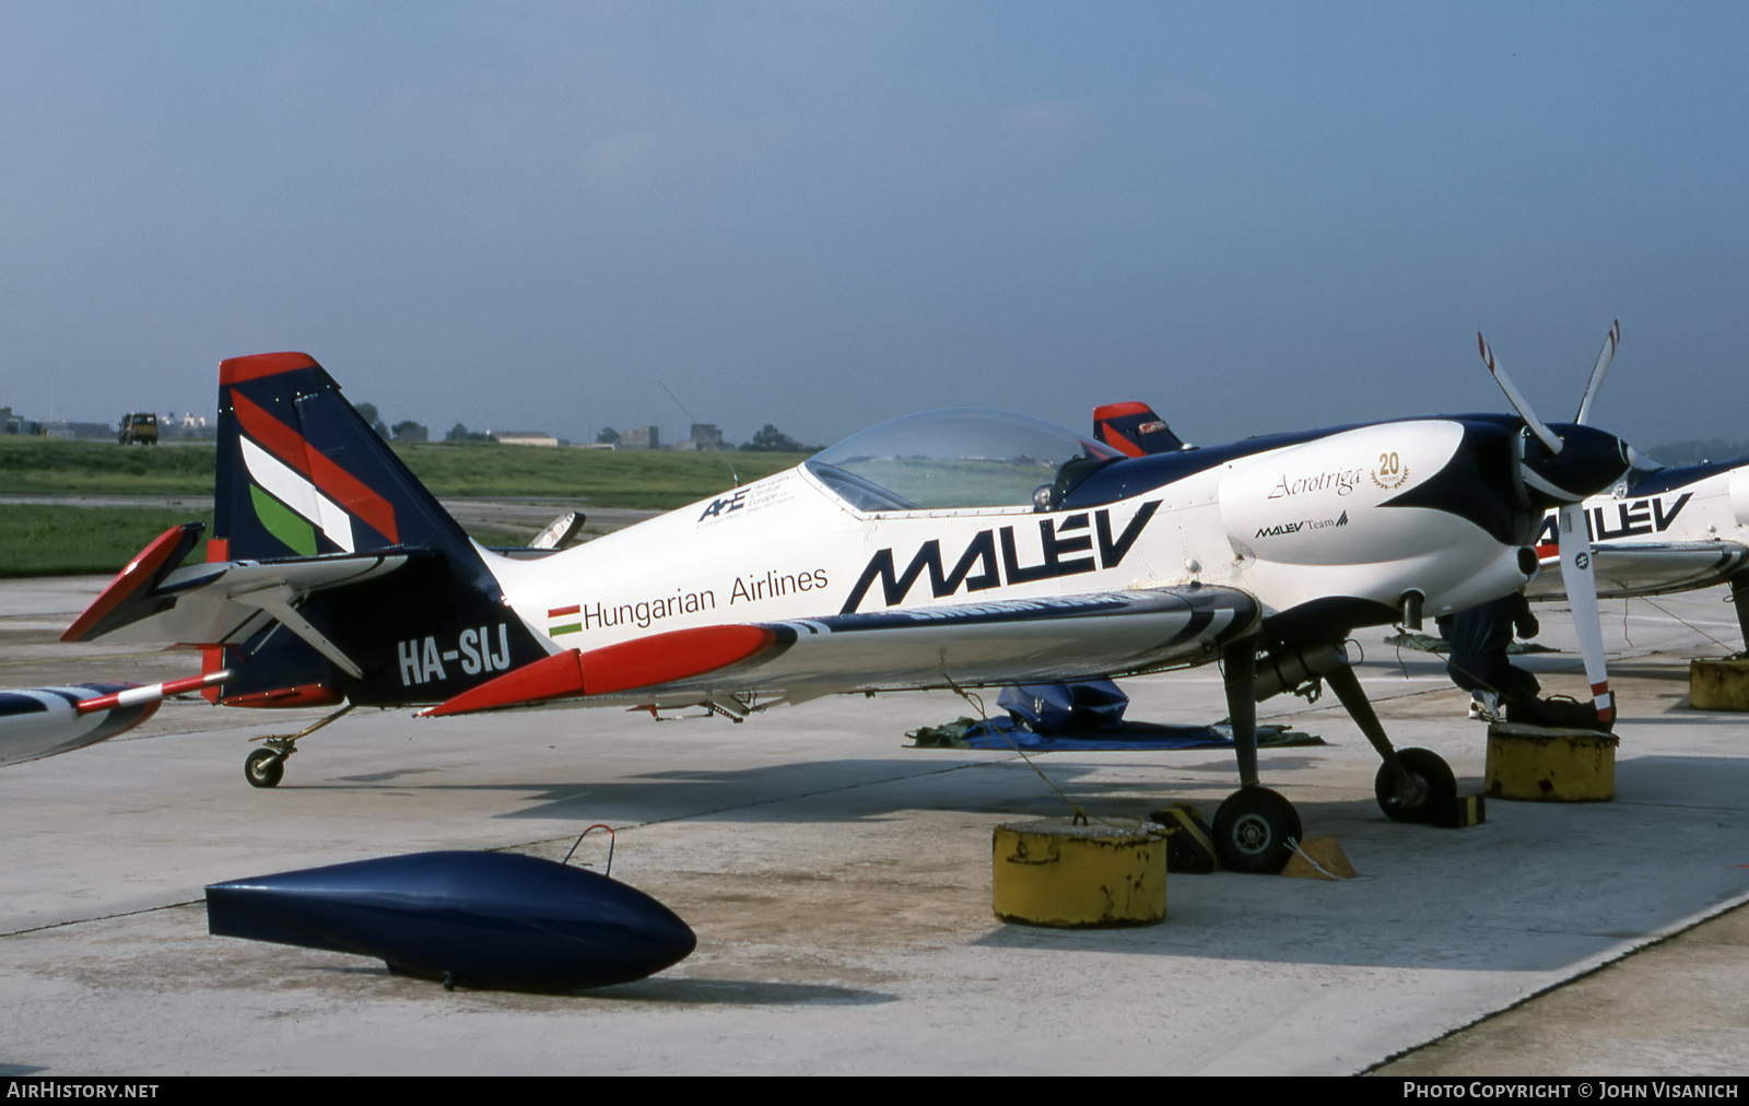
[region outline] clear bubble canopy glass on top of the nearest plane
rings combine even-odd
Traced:
[[[808,458],[808,471],[859,511],[1032,506],[1070,462],[1119,453],[1041,418],[946,408],[883,422]]]

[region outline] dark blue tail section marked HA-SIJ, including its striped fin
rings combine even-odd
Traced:
[[[488,555],[306,354],[219,366],[206,560],[138,634],[205,646],[205,672],[234,672],[208,688],[226,704],[437,702],[544,656]]]

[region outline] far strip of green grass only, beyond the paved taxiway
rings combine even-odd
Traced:
[[[801,460],[796,453],[635,453],[413,444],[395,453],[437,495],[561,495],[602,508],[679,508]],[[0,438],[0,492],[210,495],[213,446]]]

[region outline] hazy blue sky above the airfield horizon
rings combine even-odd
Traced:
[[[0,404],[1749,438],[1749,7],[0,4]]]

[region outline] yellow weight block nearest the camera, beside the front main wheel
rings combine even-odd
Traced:
[[[1167,917],[1167,838],[1158,826],[1051,819],[997,826],[993,906],[1030,926],[1151,926]]]

